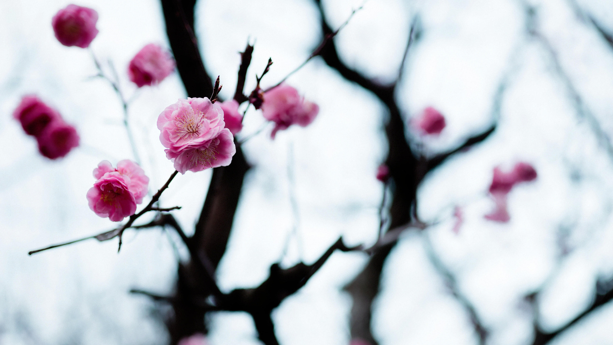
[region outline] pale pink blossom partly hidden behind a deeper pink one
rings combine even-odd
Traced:
[[[117,163],[117,168],[113,168],[110,161],[103,160],[94,169],[94,177],[101,179],[107,172],[119,172],[128,185],[128,190],[134,195],[137,204],[143,202],[143,197],[147,195],[149,177],[145,176],[145,171],[137,163],[131,160],[121,160]]]

